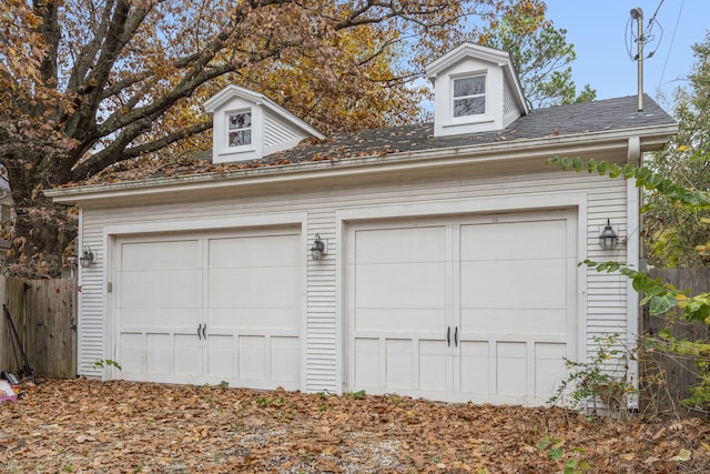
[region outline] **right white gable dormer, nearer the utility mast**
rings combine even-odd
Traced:
[[[426,68],[434,85],[434,135],[503,130],[529,112],[506,51],[463,43]]]

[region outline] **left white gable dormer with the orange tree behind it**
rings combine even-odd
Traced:
[[[227,85],[204,103],[212,113],[212,162],[257,160],[321,132],[266,95]]]

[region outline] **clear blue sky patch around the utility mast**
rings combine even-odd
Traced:
[[[556,28],[567,30],[567,42],[575,46],[577,60],[572,79],[577,90],[585,84],[597,90],[597,99],[610,99],[637,93],[638,64],[627,51],[627,24],[630,11],[643,12],[643,30],[656,13],[651,41],[643,60],[643,91],[666,110],[671,109],[672,92],[687,82],[682,80],[694,58],[691,46],[701,42],[710,30],[710,0],[546,0],[547,18]],[[660,6],[660,8],[659,8]],[[657,12],[658,10],[658,12]],[[661,29],[662,28],[662,36]],[[633,32],[637,32],[633,21]],[[631,43],[632,53],[637,43]],[[661,91],[669,100],[659,97]]]

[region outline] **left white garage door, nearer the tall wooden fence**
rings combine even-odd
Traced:
[[[118,240],[115,376],[300,389],[301,246],[297,230]]]

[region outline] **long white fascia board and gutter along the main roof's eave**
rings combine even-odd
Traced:
[[[123,201],[148,202],[150,196],[164,196],[195,190],[210,192],[230,188],[257,188],[307,182],[310,180],[335,180],[373,173],[402,173],[437,168],[466,167],[477,163],[532,160],[556,154],[626,152],[629,137],[640,137],[641,151],[649,151],[657,149],[658,143],[666,142],[677,130],[678,125],[672,124],[615,132],[547,137],[505,143],[392,153],[382,157],[304,162],[283,167],[262,167],[224,173],[191,174],[111,184],[60,188],[44,190],[44,194],[57,202],[65,204],[114,206]]]

